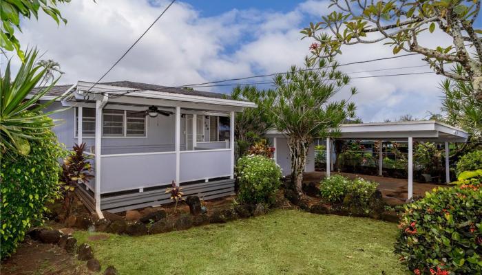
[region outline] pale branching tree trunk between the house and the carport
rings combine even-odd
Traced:
[[[288,137],[288,147],[291,157],[291,182],[298,194],[302,194],[303,172],[306,166],[306,155],[310,141],[300,137]]]

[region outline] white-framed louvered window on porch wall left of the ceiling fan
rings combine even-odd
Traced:
[[[137,111],[103,109],[102,135],[103,137],[147,137],[147,120],[143,113]],[[77,137],[77,115],[76,108],[74,116],[75,137]],[[95,109],[82,109],[82,135],[93,137],[95,135]]]

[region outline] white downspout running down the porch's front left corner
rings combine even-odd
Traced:
[[[107,104],[109,97],[107,95],[101,95],[100,100],[96,100],[96,138],[95,138],[95,159],[96,159],[96,213],[99,219],[104,219],[104,215],[101,211],[101,146],[102,146],[102,109]]]

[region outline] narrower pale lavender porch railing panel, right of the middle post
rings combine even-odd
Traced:
[[[231,173],[231,149],[180,153],[180,182],[229,177]]]

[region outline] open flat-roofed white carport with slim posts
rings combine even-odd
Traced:
[[[276,130],[267,131],[266,137],[275,147],[275,160],[283,169],[284,175],[289,175],[291,171],[291,159],[289,157],[286,135]],[[326,138],[326,175],[330,175],[333,170],[335,151],[333,151],[333,140],[369,140],[383,142],[405,142],[408,144],[408,199],[413,196],[413,142],[440,142],[445,148],[446,182],[450,182],[449,168],[449,144],[465,143],[468,133],[454,126],[434,121],[405,121],[405,122],[381,122],[381,123],[361,123],[361,124],[341,124],[337,137]],[[305,172],[315,170],[314,145],[312,144],[306,157]],[[381,147],[378,148],[381,150]],[[383,154],[379,151],[379,175],[382,175]]]

